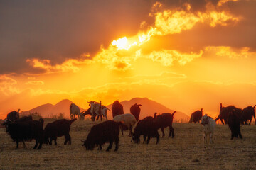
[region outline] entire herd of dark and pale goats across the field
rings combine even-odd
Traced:
[[[107,110],[109,110],[107,107],[102,106],[101,102],[96,103],[95,101],[91,101],[89,103],[91,107],[85,112],[80,112],[78,106],[71,104],[71,120],[55,120],[53,123],[48,123],[44,129],[44,120],[42,118],[39,120],[32,120],[31,116],[23,116],[22,118],[19,118],[19,110],[9,113],[2,125],[5,125],[6,132],[11,136],[11,139],[16,142],[16,148],[18,148],[19,142],[23,142],[23,146],[26,147],[25,141],[30,141],[33,139],[36,140],[36,145],[33,147],[33,149],[41,149],[43,143],[51,145],[53,140],[55,145],[57,145],[57,137],[61,136],[65,136],[64,145],[67,143],[71,144],[69,132],[70,125],[76,120],[74,115],[78,115],[78,118],[84,118],[85,115],[90,114],[92,120],[95,120],[96,116],[97,119],[99,116],[102,119],[103,115],[107,119]],[[166,127],[169,127],[169,137],[174,137],[174,128],[172,127],[172,123],[176,111],[174,111],[174,113],[163,113],[160,115],[154,113],[154,117],[148,116],[142,120],[139,120],[140,106],[142,105],[138,105],[136,103],[131,106],[131,113],[124,114],[122,104],[115,101],[112,104],[113,120],[106,120],[97,125],[93,125],[89,134],[87,135],[87,139],[82,141],[82,146],[85,146],[87,150],[92,150],[95,146],[97,146],[98,149],[101,150],[102,145],[109,142],[110,145],[107,147],[107,151],[112,148],[113,143],[115,144],[114,151],[117,151],[120,129],[122,134],[123,130],[129,130],[129,136],[132,136],[132,141],[134,143],[139,143],[140,136],[143,135],[143,143],[146,142],[146,144],[148,144],[151,137],[156,137],[157,144],[159,143],[158,130],[161,129],[162,136],[164,137],[164,128]],[[232,134],[231,139],[238,136],[242,138],[240,124],[247,125],[247,121],[250,120],[250,125],[252,116],[255,118],[255,106],[248,106],[242,110],[240,108],[236,108],[235,106],[223,107],[220,103],[220,114],[215,120],[206,114],[203,115],[203,109],[201,109],[201,111],[195,111],[191,114],[189,123],[199,123],[201,120],[205,143],[207,143],[208,135],[210,136],[210,143],[213,143],[213,132],[216,125],[215,121],[217,120],[220,120],[223,124],[228,124]],[[134,128],[134,132],[132,132],[132,128],[136,123],[137,125]]]

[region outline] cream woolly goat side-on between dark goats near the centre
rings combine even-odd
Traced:
[[[116,116],[114,116],[113,120],[116,121],[116,122],[123,121],[123,124],[125,125],[125,128],[122,127],[122,126],[120,127],[122,135],[124,135],[124,133],[123,133],[124,130],[129,129],[129,136],[132,136],[132,127],[137,122],[136,118],[134,118],[134,115],[132,115],[130,113],[126,113],[126,114],[123,114],[123,115],[116,115]]]

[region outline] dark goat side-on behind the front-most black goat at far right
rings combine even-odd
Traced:
[[[223,120],[224,120],[225,124],[227,124],[228,113],[230,113],[231,111],[234,111],[240,118],[242,117],[242,109],[236,108],[235,106],[223,107],[222,103],[220,103],[220,114],[218,115],[218,118],[215,119],[215,121],[220,119],[221,123],[223,123]],[[243,124],[242,120],[241,120],[241,124]]]

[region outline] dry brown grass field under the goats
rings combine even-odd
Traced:
[[[52,120],[46,120],[45,125]],[[153,138],[149,145],[134,144],[128,131],[120,134],[119,150],[106,152],[95,148],[85,150],[80,140],[85,140],[95,123],[75,121],[71,125],[72,145],[43,145],[33,150],[34,141],[16,143],[0,128],[0,169],[256,169],[256,125],[242,125],[243,139],[230,140],[228,125],[217,125],[214,144],[203,145],[201,125],[174,123],[174,139],[164,137],[156,145]],[[159,134],[161,135],[161,130]],[[165,129],[168,134],[168,128]],[[141,137],[142,140],[142,137]]]

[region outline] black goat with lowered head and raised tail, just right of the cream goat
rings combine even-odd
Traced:
[[[156,113],[154,114],[154,118],[147,116],[146,118],[139,120],[134,129],[134,133],[132,134],[134,143],[138,144],[140,142],[139,137],[141,135],[143,135],[143,143],[146,142],[146,144],[149,144],[151,137],[156,137],[156,144],[159,143],[159,132],[156,127]]]

